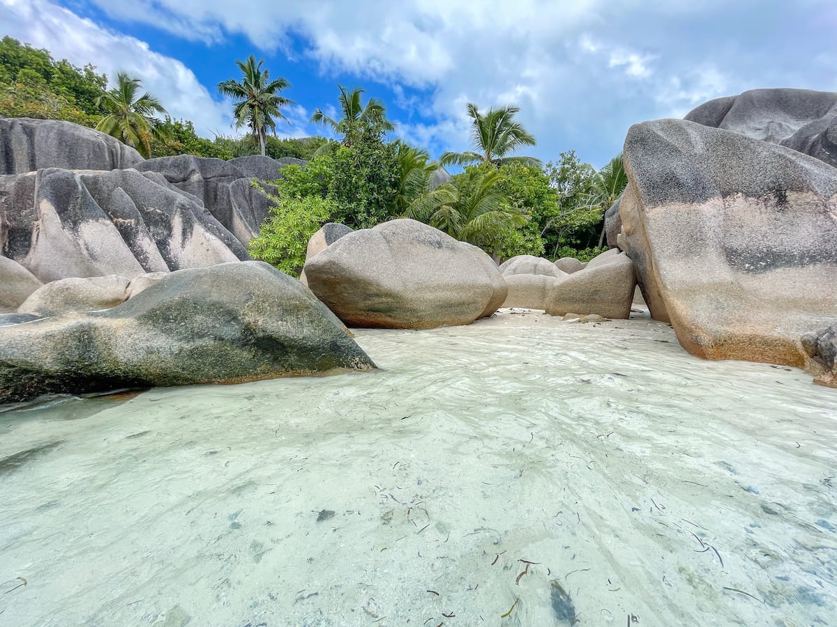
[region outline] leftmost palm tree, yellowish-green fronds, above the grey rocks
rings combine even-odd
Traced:
[[[153,117],[155,113],[165,114],[167,111],[148,92],[137,98],[140,89],[140,79],[133,79],[126,72],[116,74],[116,87],[96,99],[96,106],[108,112],[99,120],[96,130],[116,137],[149,158],[152,137],[157,140],[169,139],[168,130],[160,120]]]

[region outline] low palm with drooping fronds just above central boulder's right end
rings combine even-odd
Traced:
[[[425,222],[461,242],[491,249],[510,229],[528,220],[499,191],[500,180],[500,172],[494,169],[468,168],[419,196],[404,217]]]

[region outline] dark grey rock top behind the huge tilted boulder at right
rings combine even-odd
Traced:
[[[752,89],[701,104],[686,120],[783,145],[837,166],[837,93]]]

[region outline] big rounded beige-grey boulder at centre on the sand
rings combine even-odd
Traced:
[[[470,324],[506,300],[491,257],[413,220],[348,233],[311,257],[305,273],[317,298],[360,327]]]

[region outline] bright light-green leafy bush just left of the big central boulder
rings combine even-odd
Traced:
[[[308,240],[336,212],[336,204],[317,196],[277,198],[264,220],[259,237],[250,240],[254,259],[270,263],[285,274],[298,277],[306,262]]]

